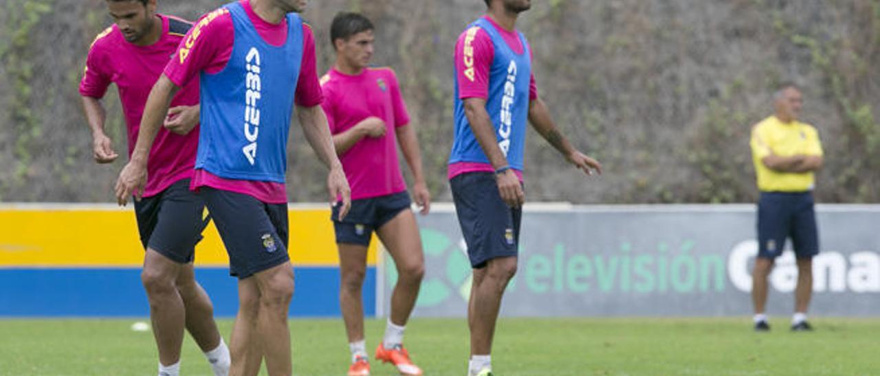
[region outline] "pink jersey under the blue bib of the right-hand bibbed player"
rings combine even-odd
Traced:
[[[511,49],[513,49],[514,52],[517,54],[523,53],[524,46],[516,31],[504,29],[489,16],[484,16],[484,18],[495,26],[495,29],[501,34],[502,39]],[[458,42],[455,44],[455,67],[458,72],[455,81],[458,85],[458,97],[461,99],[486,99],[489,95],[489,69],[492,67],[492,60],[495,59],[495,45],[492,43],[492,38],[489,37],[489,34],[486,33],[485,30],[477,32],[476,35],[474,35],[473,40],[470,40],[469,43],[466,42],[466,39],[467,33],[462,33],[458,37]],[[465,72],[468,68],[465,65],[466,47],[473,48],[473,81],[465,76]],[[531,53],[532,51],[530,50],[529,52]],[[535,75],[532,73],[532,79],[529,83],[529,99],[535,100],[537,98],[538,85],[535,83]],[[466,172],[495,172],[495,168],[488,163],[452,163],[449,166],[447,177],[456,177]],[[517,176],[522,180],[522,171],[514,170],[514,172],[516,172]]]

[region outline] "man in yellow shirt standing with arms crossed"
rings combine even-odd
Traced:
[[[774,93],[776,114],[752,128],[752,161],[758,176],[758,258],[752,272],[755,330],[766,331],[767,275],[790,237],[797,257],[797,286],[792,330],[811,330],[807,307],[812,293],[812,258],[818,254],[813,210],[815,171],[822,167],[816,128],[797,121],[801,90],[784,83]]]

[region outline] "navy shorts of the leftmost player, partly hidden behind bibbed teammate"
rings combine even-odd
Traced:
[[[178,264],[193,262],[195,244],[202,240],[202,230],[210,221],[202,198],[189,190],[189,179],[135,200],[135,216],[143,248]]]

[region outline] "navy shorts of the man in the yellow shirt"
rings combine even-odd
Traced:
[[[819,236],[812,193],[761,192],[758,201],[758,257],[779,257],[788,237],[794,244],[797,258],[818,255]]]

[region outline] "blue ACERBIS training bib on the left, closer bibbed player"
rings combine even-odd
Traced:
[[[202,71],[202,129],[195,168],[227,179],[284,183],[287,137],[300,65],[303,23],[287,15],[283,46],[269,45],[238,2],[226,4],[235,26],[230,61]]]

